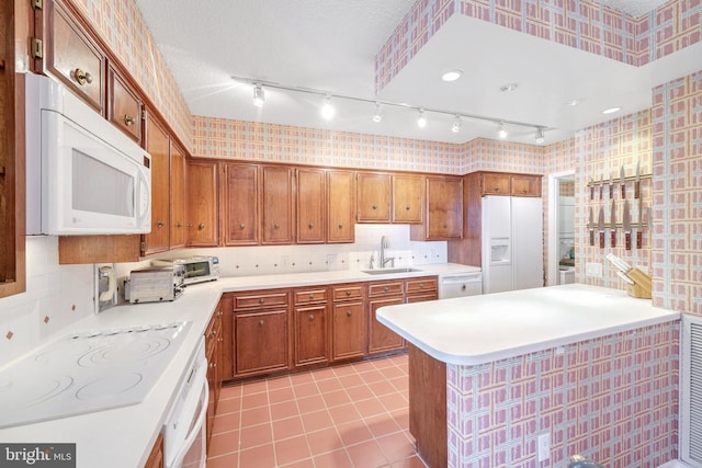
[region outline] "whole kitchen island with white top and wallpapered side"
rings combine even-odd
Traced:
[[[410,343],[410,432],[430,467],[675,458],[678,312],[571,284],[390,306],[377,319]]]

